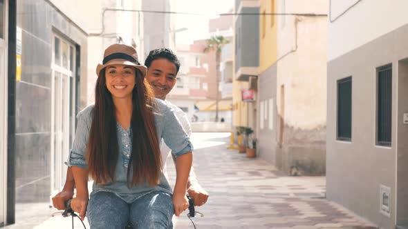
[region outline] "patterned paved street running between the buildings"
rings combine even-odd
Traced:
[[[228,133],[193,134],[194,168],[198,181],[210,193],[205,206],[196,208],[204,214],[193,219],[196,228],[375,228],[324,199],[324,177],[287,177],[261,159],[227,150],[229,139]],[[167,163],[174,183],[174,163],[171,159]],[[174,217],[175,229],[194,228],[186,215]],[[6,228],[33,228],[26,223]],[[72,227],[71,219],[61,216],[36,225],[36,229]],[[75,219],[75,228],[83,228],[79,219]]]

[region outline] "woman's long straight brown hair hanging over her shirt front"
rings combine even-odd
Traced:
[[[96,81],[95,108],[86,150],[89,173],[95,182],[100,184],[115,181],[115,168],[119,154],[115,105],[105,83],[105,70],[102,70]],[[154,123],[156,103],[151,86],[137,69],[132,101],[132,148],[127,168],[128,185],[147,181],[150,186],[154,186],[158,184],[162,163]]]

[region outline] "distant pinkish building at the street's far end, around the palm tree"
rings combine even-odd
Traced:
[[[214,121],[218,94],[219,121],[222,118],[231,123],[232,17],[210,19],[209,32],[211,37],[222,35],[230,41],[221,52],[221,75],[218,83],[215,52],[204,52],[206,39],[196,40],[191,45],[178,45],[180,71],[176,86],[167,99],[185,110],[190,121]]]

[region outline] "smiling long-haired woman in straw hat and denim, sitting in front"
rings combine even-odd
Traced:
[[[173,110],[154,98],[146,71],[134,48],[109,46],[96,69],[95,105],[77,115],[68,158],[77,188],[71,208],[91,228],[123,228],[128,221],[134,228],[172,228],[172,215],[188,208],[192,144]],[[160,170],[162,138],[177,157],[174,192]]]

